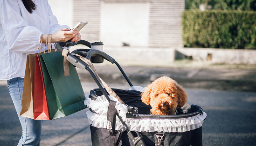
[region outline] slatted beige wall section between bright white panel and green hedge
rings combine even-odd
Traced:
[[[150,0],[150,47],[183,47],[181,14],[184,9],[185,0]]]

